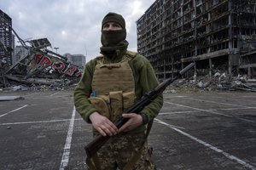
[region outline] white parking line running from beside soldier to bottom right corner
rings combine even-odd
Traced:
[[[206,146],[207,148],[210,148],[211,150],[214,150],[222,155],[224,155],[225,157],[227,157],[228,159],[230,159],[231,161],[236,161],[237,163],[241,164],[242,166],[244,167],[247,167],[247,168],[250,168],[252,170],[256,170],[256,167],[253,167],[253,165],[247,163],[246,161],[242,161],[241,159],[239,159],[238,157],[236,156],[232,156],[230,155],[229,153],[227,152],[224,152],[224,150],[220,150],[218,149],[217,147],[213,146],[212,144],[207,144],[207,142],[204,142],[202,141],[201,139],[197,139],[195,138],[194,136],[191,136],[189,133],[185,133],[183,132],[182,130],[178,129],[177,127],[173,127],[172,125],[164,122],[164,123],[161,123],[161,124],[164,124],[166,125],[167,127],[170,127],[172,128],[172,130],[175,130],[177,131],[178,133],[182,133],[184,136],[187,136],[189,137],[189,139],[193,139],[195,140],[196,142],[200,143],[200,144],[203,144],[204,146]]]

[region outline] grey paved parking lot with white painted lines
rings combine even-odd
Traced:
[[[86,169],[91,127],[72,91],[9,92],[0,102],[0,169]],[[256,169],[256,94],[164,94],[148,137],[158,170]]]

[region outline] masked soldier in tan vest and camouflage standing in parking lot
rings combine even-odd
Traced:
[[[125,19],[108,13],[102,20],[101,54],[84,67],[74,90],[76,110],[91,123],[93,135],[112,136],[97,152],[90,169],[155,169],[146,129],[163,105],[160,95],[139,113],[123,111],[158,85],[152,65],[143,55],[127,50]],[[128,118],[119,129],[114,122]]]

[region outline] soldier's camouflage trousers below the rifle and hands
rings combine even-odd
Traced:
[[[118,134],[111,137],[97,152],[98,161],[102,170],[122,170],[144,143],[144,133]],[[154,170],[148,144],[144,144],[143,151],[132,170]]]

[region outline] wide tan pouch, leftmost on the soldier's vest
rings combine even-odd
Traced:
[[[109,98],[108,96],[102,95],[98,97],[90,97],[90,103],[96,107],[96,110],[102,115],[109,119]]]

